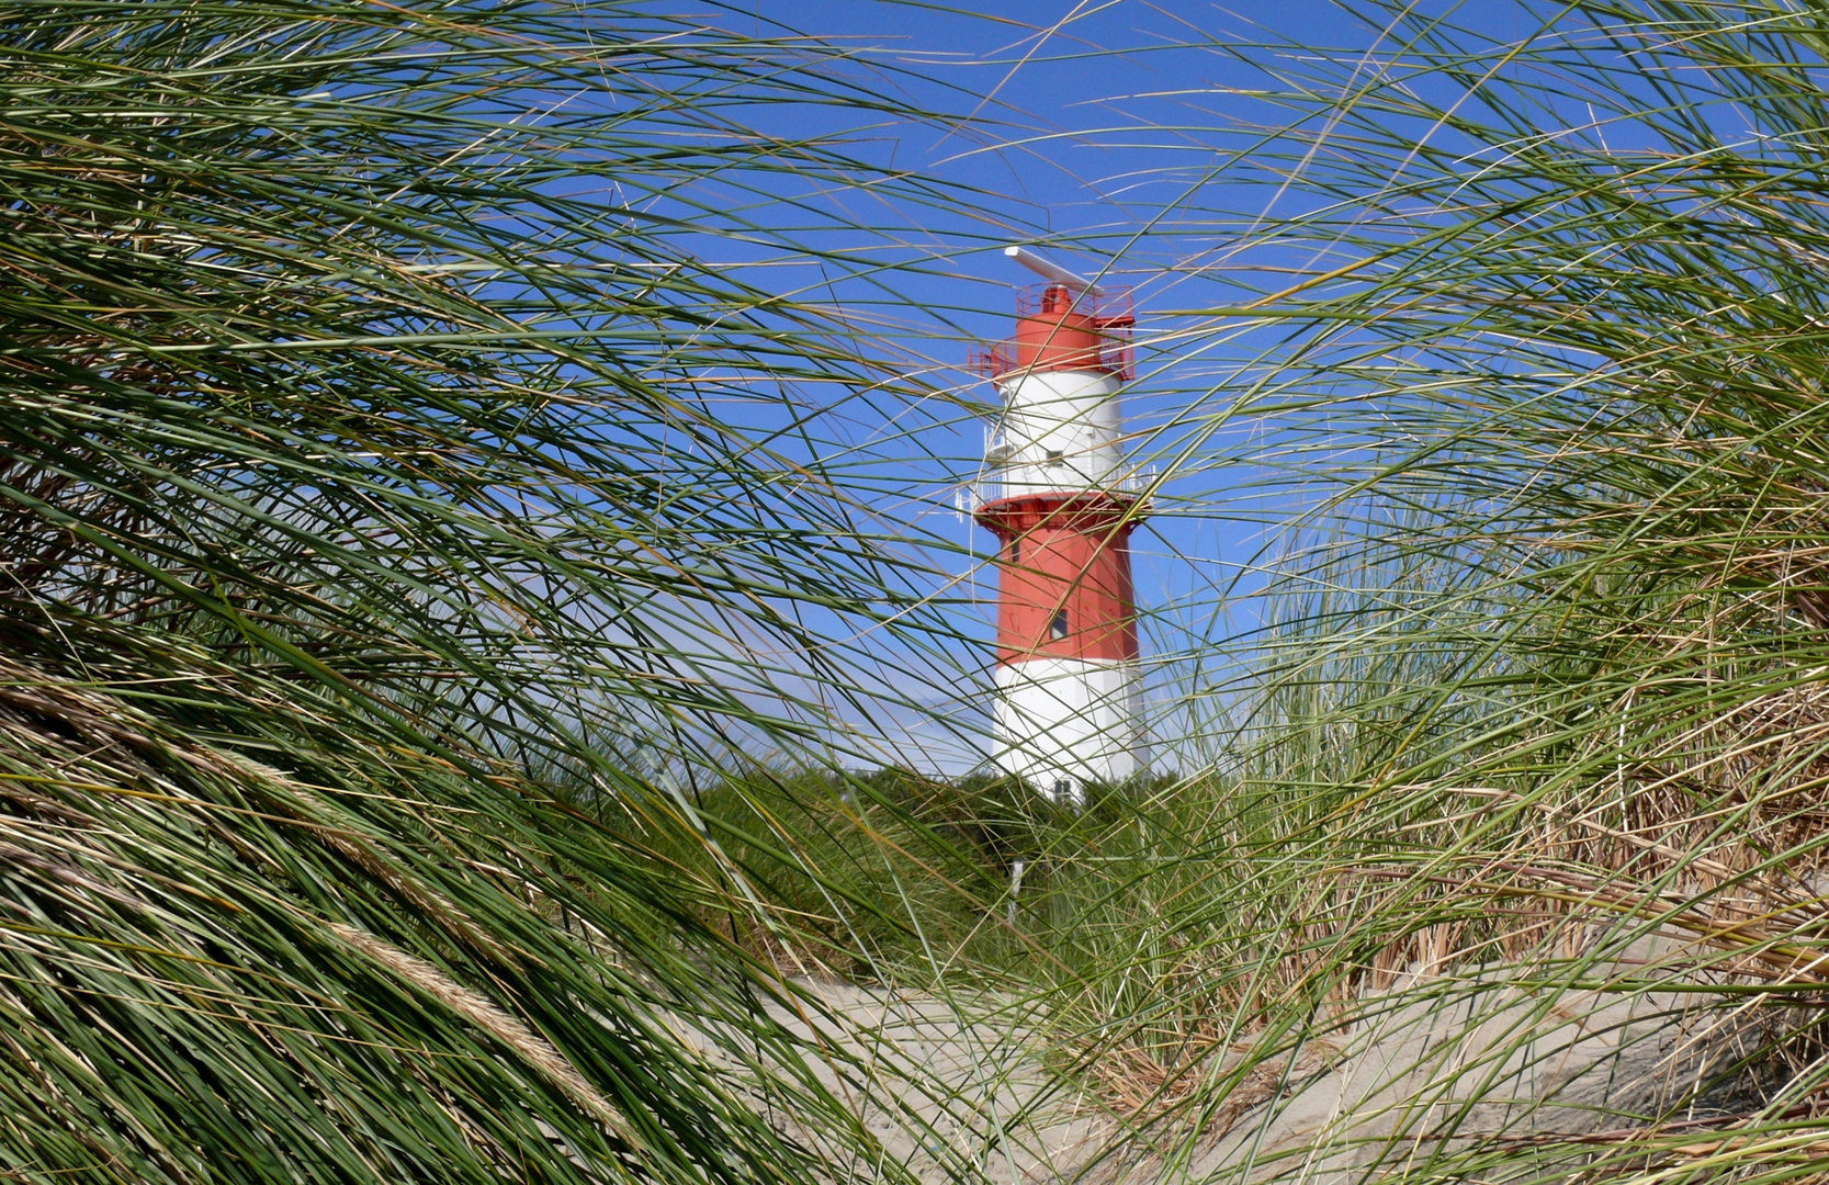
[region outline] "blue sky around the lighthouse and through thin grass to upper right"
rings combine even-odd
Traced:
[[[849,46],[869,86],[938,113],[914,123],[861,106],[783,104],[759,113],[772,121],[768,132],[845,132],[865,161],[933,176],[958,187],[955,199],[969,190],[964,203],[891,208],[876,190],[821,190],[808,179],[797,194],[801,207],[770,194],[748,210],[759,225],[781,230],[772,247],[741,236],[728,245],[730,262],[754,269],[759,287],[819,293],[856,318],[909,379],[902,390],[860,393],[830,384],[805,393],[807,406],[823,408],[818,444],[829,472],[880,516],[885,536],[922,552],[938,583],[958,580],[942,591],[958,602],[955,620],[966,636],[918,655],[885,635],[871,651],[885,700],[907,700],[885,715],[889,757],[958,768],[957,753],[940,755],[944,724],[927,717],[957,708],[957,719],[971,724],[982,721],[988,700],[989,587],[973,580],[973,552],[982,558],[989,539],[949,512],[949,486],[977,464],[982,433],[973,402],[984,410],[989,399],[960,360],[973,340],[1008,333],[1011,289],[1028,280],[1002,260],[1004,245],[1046,241],[1063,263],[1108,265],[1108,280],[1136,289],[1143,349],[1127,410],[1141,432],[1141,459],[1172,464],[1158,514],[1136,541],[1145,657],[1158,664],[1160,704],[1193,689],[1222,706],[1227,680],[1258,666],[1249,633],[1262,602],[1251,592],[1278,558],[1286,525],[1350,477],[1370,474],[1381,457],[1430,437],[1436,426],[1414,417],[1443,406],[1430,393],[1436,384],[1478,404],[1494,375],[1582,364],[1542,351],[1518,360],[1514,342],[1481,333],[1476,318],[1467,336],[1456,336],[1461,313],[1447,305],[1421,307],[1414,329],[1405,327],[1412,311],[1332,336],[1315,329],[1308,342],[1315,349],[1284,364],[1289,347],[1278,326],[1293,322],[1266,316],[1253,324],[1240,304],[1299,276],[1319,282],[1342,265],[1366,265],[1386,245],[1423,245],[1407,256],[1414,263],[1432,249],[1436,229],[1483,243],[1502,221],[1487,212],[1511,208],[1522,196],[1555,218],[1564,201],[1560,172],[1507,181],[1494,165],[1520,155],[1524,143],[1589,152],[1589,165],[1622,150],[1655,155],[1666,148],[1653,113],[1661,102],[1728,141],[1787,152],[1765,146],[1747,112],[1710,90],[1714,75],[1681,55],[1670,62],[1650,60],[1655,53],[1620,57],[1611,31],[1575,18],[1529,53],[1511,53],[1544,33],[1544,20],[1566,15],[1556,4],[1441,0],[1410,9],[1460,27],[1432,53],[1407,55],[1379,26],[1359,20],[1352,4],[1308,0],[1244,9],[1118,0],[975,11],[891,0],[755,0],[722,11],[730,24],[748,20],[748,33],[786,27]],[[1368,55],[1374,46],[1379,53]],[[1443,59],[1465,71],[1441,68]],[[1370,79],[1379,86],[1361,88]],[[1300,93],[1306,80],[1315,88]],[[1353,102],[1328,110],[1339,88]],[[1661,99],[1664,91],[1677,97]],[[1364,123],[1355,126],[1344,108]],[[1456,130],[1449,112],[1467,123]],[[1330,123],[1333,115],[1339,124]],[[1313,121],[1304,132],[1315,135],[1278,139],[1277,130],[1304,121]],[[1355,133],[1363,139],[1353,141]],[[1498,179],[1483,181],[1489,172]],[[1463,192],[1474,194],[1465,199],[1472,205],[1461,205]],[[850,223],[849,241],[830,219],[812,216],[814,207],[843,212],[838,221]],[[1284,227],[1293,238],[1262,240],[1266,218],[1322,208],[1328,218]],[[790,227],[794,219],[801,225]],[[832,252],[840,274],[807,260],[755,267],[766,251],[792,254],[796,234]],[[883,287],[860,274],[872,263],[893,269]],[[1507,291],[1531,291],[1535,282],[1524,276]],[[1379,272],[1364,271],[1339,287],[1377,283]],[[1357,369],[1342,368],[1342,357]],[[1242,399],[1257,399],[1258,384],[1275,399],[1231,417]],[[1407,391],[1423,388],[1403,402]],[[1317,472],[1322,466],[1332,472]],[[1450,461],[1439,496],[1480,497],[1456,486],[1452,468]],[[1487,496],[1503,505],[1511,492],[1498,483]],[[1401,501],[1374,505],[1372,496],[1353,510],[1368,516],[1339,536],[1353,561],[1366,554],[1366,536],[1357,532],[1375,536],[1388,527],[1377,516],[1430,512]],[[929,737],[933,748],[920,752]]]

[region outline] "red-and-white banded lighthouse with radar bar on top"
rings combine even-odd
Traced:
[[[1063,806],[1149,761],[1130,532],[1143,475],[1127,468],[1119,390],[1130,379],[1130,293],[1046,258],[1017,294],[1015,336],[977,351],[1000,415],[986,432],[973,518],[997,536],[991,759]]]

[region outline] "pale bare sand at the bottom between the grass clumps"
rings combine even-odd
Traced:
[[[1008,1000],[955,1002],[845,984],[807,984],[829,1017],[783,1019],[863,1066],[821,1081],[871,1125],[885,1156],[925,1181],[1022,1185],[1311,1181],[1403,1176],[1449,1147],[1445,1125],[1527,1143],[1553,1132],[1613,1132],[1745,1048],[1734,1017],[1686,1013],[1675,993],[1617,998],[1456,980],[1452,1004],[1399,982],[1372,1013],[1295,1057],[1258,1066],[1198,1123],[1127,1126],[1046,1068],[1046,1030]],[[1520,1037],[1524,1041],[1520,1041]],[[1236,1064],[1218,1059],[1213,1072]],[[1741,1106],[1721,1088],[1710,1106]],[[840,1165],[867,1181],[878,1165]]]

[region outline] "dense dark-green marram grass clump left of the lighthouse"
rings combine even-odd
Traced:
[[[913,115],[644,5],[0,13],[0,1176],[871,1154],[708,922],[754,892],[655,858],[715,841],[624,759],[792,744],[744,647],[898,596],[713,411],[872,377],[706,262],[874,177],[743,119],[783,102]]]

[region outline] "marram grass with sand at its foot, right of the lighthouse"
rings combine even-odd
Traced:
[[[1150,1172],[1820,1178],[1829,24],[1342,9],[1207,46],[1189,466],[1300,521],[1211,777],[1063,854],[1075,1066]]]

